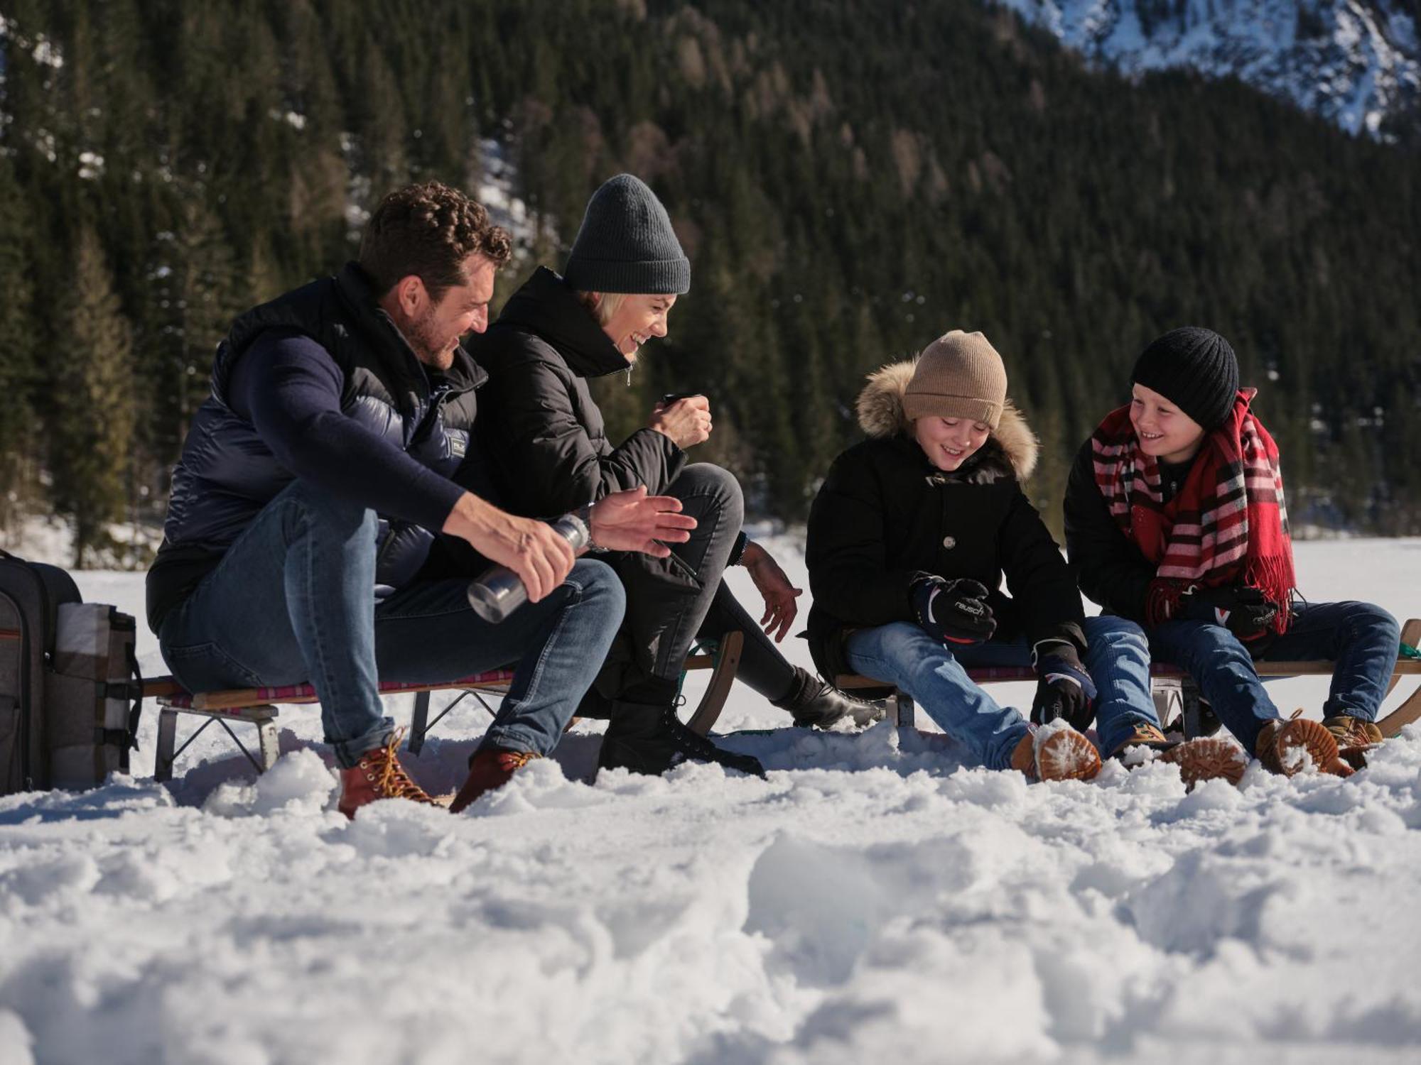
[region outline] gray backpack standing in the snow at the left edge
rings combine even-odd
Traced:
[[[58,567],[0,551],[0,795],[128,772],[142,677],[134,618]]]

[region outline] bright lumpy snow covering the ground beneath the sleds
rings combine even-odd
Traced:
[[[1421,541],[1297,558],[1309,598],[1421,609]],[[142,613],[141,575],[80,584]],[[455,787],[485,721],[456,709],[421,781]],[[588,787],[584,726],[463,816],[347,822],[317,711],[281,724],[260,780],[209,734],[153,784],[149,714],[135,778],[0,799],[0,1062],[1418,1059],[1418,728],[1350,781],[1185,795],[1162,765],[1027,785],[887,724],[735,740],[769,781]],[[722,717],[776,724],[739,687]]]

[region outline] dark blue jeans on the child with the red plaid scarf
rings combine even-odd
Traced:
[[[1368,602],[1295,604],[1293,609],[1287,632],[1268,645],[1259,660],[1334,660],[1337,667],[1323,716],[1377,720],[1401,645],[1397,619]],[[1246,751],[1256,747],[1259,730],[1279,717],[1253,669],[1253,656],[1228,629],[1205,622],[1165,622],[1151,629],[1150,652],[1155,660],[1172,662],[1194,677],[1219,721]]]

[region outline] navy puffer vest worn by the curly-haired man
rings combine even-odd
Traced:
[[[345,379],[341,410],[423,466],[453,477],[468,450],[477,410],[475,389],[487,375],[459,348],[453,366],[431,386],[354,263],[337,277],[247,311],[217,346],[212,396],[193,416],[173,470],[163,544],[148,579],[155,630],[293,480],[252,423],[227,406],[233,365],[269,329],[301,332],[325,348]],[[423,564],[433,531],[382,517],[378,535],[377,591],[388,592]]]

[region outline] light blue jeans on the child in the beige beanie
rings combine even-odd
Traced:
[[[1160,726],[1150,697],[1150,653],[1144,630],[1123,618],[1087,618],[1090,649],[1084,665],[1096,682],[1096,720],[1101,748],[1113,751],[1135,724]],[[911,622],[860,629],[844,640],[848,665],[884,680],[922,706],[928,717],[993,770],[1012,764],[1012,751],[1026,736],[1020,711],[1002,707],[972,682],[971,666],[1029,666],[1026,639],[989,640],[948,649]]]

